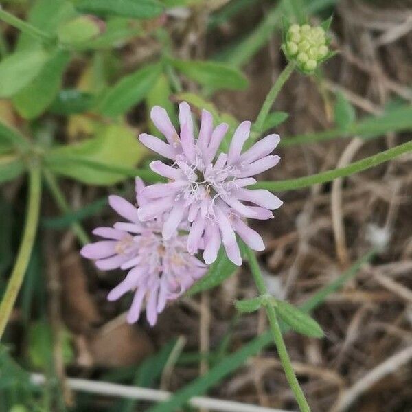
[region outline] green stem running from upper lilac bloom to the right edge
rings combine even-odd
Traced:
[[[376,155],[365,157],[365,159],[350,163],[350,165],[347,165],[344,168],[327,170],[326,172],[298,177],[297,179],[286,179],[283,181],[261,181],[251,187],[253,187],[253,189],[267,189],[273,192],[301,189],[302,187],[329,182],[334,179],[338,179],[339,177],[350,176],[351,174],[361,172],[362,170],[374,168],[374,166],[380,165],[380,163],[384,163],[385,161],[389,161],[411,151],[412,140],[407,143],[400,144],[399,146],[395,146],[394,148],[385,150],[384,152],[377,153]]]

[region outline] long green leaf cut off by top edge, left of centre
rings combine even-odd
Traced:
[[[163,5],[156,0],[80,0],[75,7],[79,12],[98,16],[134,19],[152,19],[163,12]]]

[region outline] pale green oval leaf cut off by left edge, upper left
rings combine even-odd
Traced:
[[[15,52],[0,62],[0,98],[10,98],[29,84],[47,62],[43,49]]]

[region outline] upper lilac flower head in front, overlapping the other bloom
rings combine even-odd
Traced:
[[[187,251],[194,254],[204,244],[203,258],[207,264],[216,260],[220,244],[229,259],[242,264],[236,233],[256,251],[264,249],[261,236],[250,229],[244,218],[273,218],[271,210],[282,201],[268,190],[249,190],[256,183],[255,176],[279,162],[270,155],[279,143],[278,135],[268,135],[242,153],[249,137],[250,122],[242,122],[236,129],[227,153],[218,153],[228,125],[214,128],[211,113],[203,110],[198,138],[190,106],[179,106],[180,135],[166,111],[155,106],[150,113],[152,122],[165,135],[166,141],[143,133],[140,141],[148,148],[167,157],[171,165],[153,161],[150,168],[170,181],[148,186],[142,192],[146,205],[138,211],[139,219],[147,222],[170,211],[163,224],[163,237],[169,239],[182,220],[192,223],[187,238]]]

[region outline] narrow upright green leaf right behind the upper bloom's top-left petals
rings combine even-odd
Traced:
[[[150,89],[148,95],[146,96],[146,108],[148,115],[148,125],[149,130],[152,135],[157,137],[162,137],[163,135],[157,130],[152,120],[150,119],[150,110],[153,106],[161,106],[168,112],[170,120],[173,124],[177,124],[176,108],[174,104],[170,101],[170,96],[172,91],[170,90],[170,84],[168,78],[164,74],[161,74],[157,79],[155,85]]]

